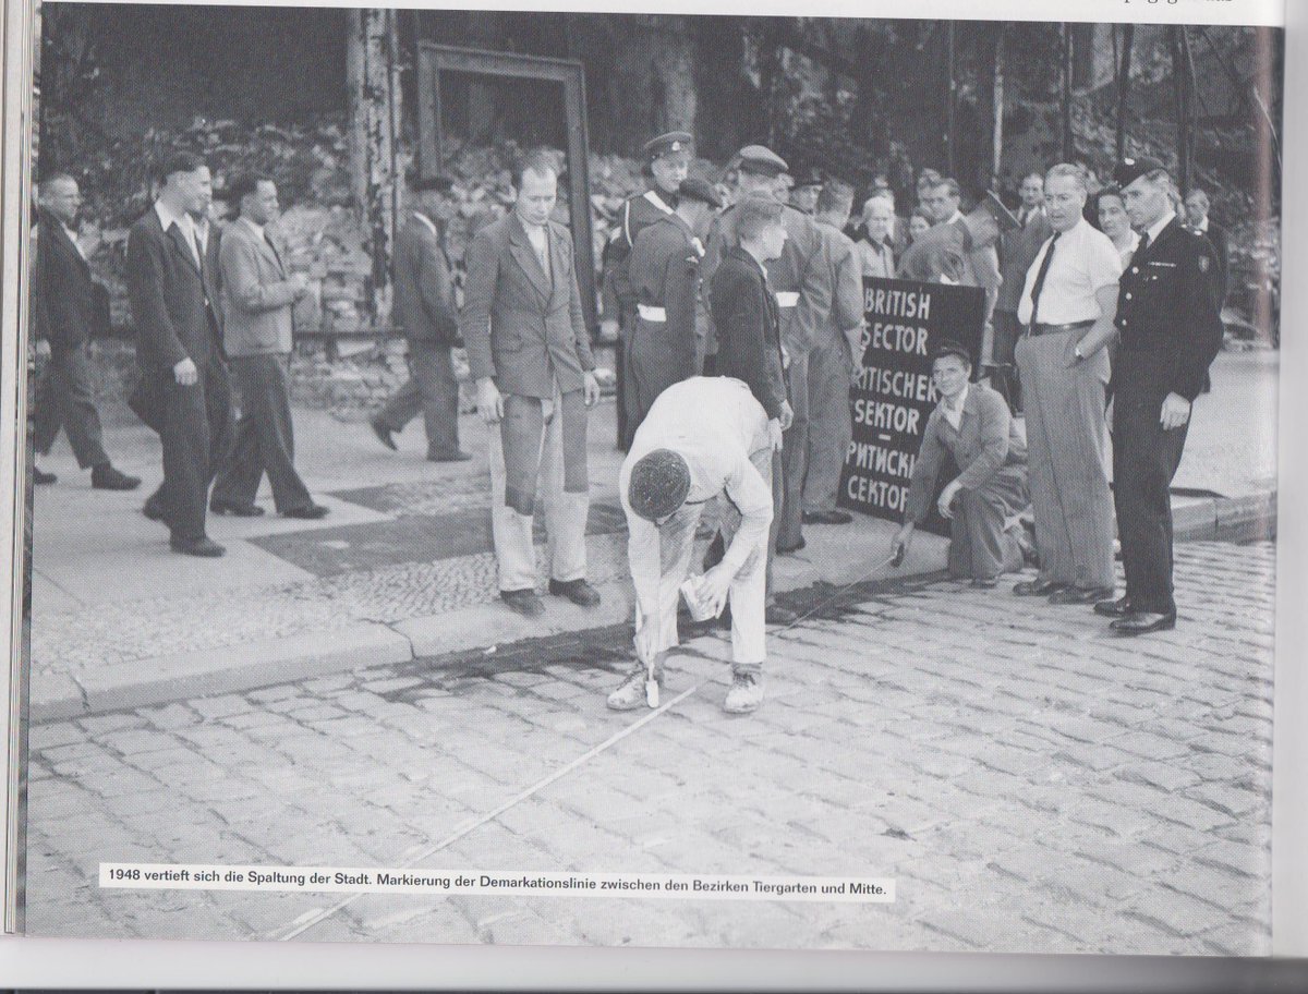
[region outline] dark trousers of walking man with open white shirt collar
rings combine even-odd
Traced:
[[[164,383],[164,483],[149,498],[174,540],[204,536],[209,484],[232,445],[232,385],[224,360],[212,354],[199,379],[181,386],[173,370],[153,370]]]

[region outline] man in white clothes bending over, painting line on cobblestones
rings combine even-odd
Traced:
[[[723,709],[747,714],[763,702],[772,458],[781,421],[768,419],[749,387],[729,377],[695,377],[664,390],[636,432],[619,493],[627,511],[628,557],[636,586],[636,654],[663,662],[678,645],[676,608],[691,568],[705,504],[725,500],[722,561],[700,579],[700,600],[719,613],[731,604],[731,689]],[[645,704],[646,666],[637,662],[608,706]]]

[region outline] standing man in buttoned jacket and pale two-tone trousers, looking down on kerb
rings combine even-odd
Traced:
[[[586,582],[586,420],[599,383],[572,237],[549,217],[557,188],[557,169],[542,154],[514,170],[513,211],[468,246],[459,315],[477,411],[490,425],[500,596],[526,617],[545,609],[531,538],[542,475],[549,592],[582,607],[599,604],[599,591]]]

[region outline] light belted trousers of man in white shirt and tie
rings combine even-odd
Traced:
[[[1040,579],[1110,590],[1113,497],[1108,487],[1108,353],[1078,360],[1076,331],[1016,347],[1027,415],[1031,509]]]

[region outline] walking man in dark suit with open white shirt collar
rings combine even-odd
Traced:
[[[145,502],[170,547],[215,557],[204,530],[209,484],[232,439],[232,392],[218,310],[218,238],[198,222],[213,196],[209,167],[191,152],[164,163],[154,205],[127,237],[127,293],[141,386],[133,404],[158,426],[164,483]]]

